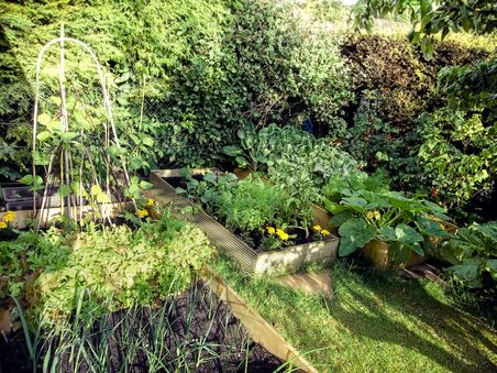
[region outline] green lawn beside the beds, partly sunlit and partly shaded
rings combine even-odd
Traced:
[[[333,266],[333,295],[305,295],[214,265],[320,372],[490,372],[497,333],[455,308],[441,285]]]

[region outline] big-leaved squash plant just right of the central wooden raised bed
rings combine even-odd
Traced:
[[[363,180],[363,188],[353,189],[351,186],[361,185],[356,178],[342,178],[324,188],[324,207],[334,215],[331,224],[339,227],[341,235],[341,256],[380,240],[389,243],[390,260],[402,263],[412,251],[424,254],[422,242],[427,238],[452,237],[441,224],[450,220],[442,207],[418,196],[382,190],[380,185],[372,180]],[[367,175],[364,178],[367,179]],[[367,186],[374,190],[367,190]]]

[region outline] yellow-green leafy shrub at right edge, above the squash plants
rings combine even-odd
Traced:
[[[497,142],[481,114],[440,109],[421,116],[420,122],[423,143],[419,160],[433,195],[456,208],[490,188],[497,171]]]

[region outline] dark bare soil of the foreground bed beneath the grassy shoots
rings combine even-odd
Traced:
[[[99,317],[89,330],[86,330],[90,343],[95,348],[101,345],[97,331],[104,328],[113,330],[108,341],[108,371],[118,372],[123,369],[124,356],[130,354],[132,340],[140,340],[137,353],[131,358],[128,367],[130,372],[148,372],[151,361],[146,348],[157,342],[153,339],[154,331],[163,322],[165,328],[158,333],[164,343],[161,361],[164,371],[186,371],[179,365],[177,351],[184,351],[186,364],[195,372],[273,372],[281,362],[267,352],[262,345],[254,343],[244,327],[231,315],[229,308],[216,295],[199,282],[188,292],[165,300],[159,308],[142,307],[133,311],[121,310],[104,317]],[[7,340],[0,336],[0,372],[31,372],[29,352],[22,330],[10,333]],[[119,341],[124,341],[120,343]],[[53,349],[55,347],[53,341]],[[42,345],[42,344],[38,344]],[[202,345],[203,349],[199,347]],[[186,352],[188,351],[188,353]],[[196,366],[198,358],[202,359]],[[38,362],[44,361],[44,353]],[[42,369],[42,366],[38,366]],[[81,364],[78,372],[90,369]],[[57,371],[73,372],[68,353],[63,354]]]

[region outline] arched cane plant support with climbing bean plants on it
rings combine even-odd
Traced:
[[[106,114],[104,117],[107,117],[101,121],[103,133],[98,133],[98,124],[90,125],[93,133],[87,133],[85,131],[85,125],[76,125],[78,124],[77,122],[74,128],[71,125],[71,116],[76,117],[78,111],[76,109],[76,100],[74,101],[70,114],[67,107],[68,97],[65,70],[65,43],[73,43],[80,46],[90,55],[91,61],[95,64],[99,85],[101,87],[103,112]],[[59,123],[57,123],[57,121],[51,118],[47,113],[40,114],[42,62],[45,53],[55,45],[59,45],[60,51],[60,62],[58,66],[59,96],[53,96],[52,99],[58,106],[57,116]],[[87,112],[79,113],[80,116],[88,116]],[[88,118],[88,120],[90,122],[92,121],[91,118]],[[38,132],[38,124],[44,125],[45,130]],[[92,136],[93,134],[97,134],[96,139]],[[40,149],[36,146],[36,141],[41,143]],[[88,142],[91,142],[93,146],[89,146]],[[49,152],[48,160],[46,157],[43,158],[43,151]],[[99,151],[99,154],[96,154],[95,151]],[[114,156],[111,156],[111,153]],[[130,176],[122,155],[123,150],[120,145],[115,130],[111,100],[102,66],[99,63],[95,52],[86,43],[77,39],[66,37],[64,35],[64,26],[62,26],[60,37],[54,39],[46,43],[40,51],[36,62],[35,100],[33,112],[33,174],[31,179],[34,189],[40,188],[42,184],[40,177],[36,176],[36,165],[42,164],[46,167],[46,183],[40,209],[37,209],[38,205],[36,204],[36,193],[33,194],[33,209],[35,216],[37,215],[40,217],[36,226],[37,229],[41,227],[43,212],[47,207],[51,185],[53,186],[56,180],[55,172],[57,171],[57,161],[59,172],[59,194],[62,197],[60,212],[68,218],[81,221],[82,207],[86,199],[90,202],[90,205],[95,206],[98,204],[101,218],[107,219],[110,222],[107,205],[112,202],[111,191],[117,191],[114,187],[119,184],[119,175],[117,175],[112,168],[113,161],[120,162],[125,186],[130,185]],[[104,176],[102,176],[102,174],[104,174]],[[89,190],[87,191],[86,188],[89,188]]]

